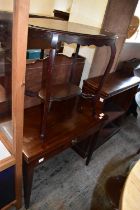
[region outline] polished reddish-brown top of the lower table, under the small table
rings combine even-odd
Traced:
[[[69,115],[67,112],[68,108],[66,110],[64,104],[63,107],[62,104],[58,105],[58,108],[55,107],[55,112],[50,112],[47,139],[42,142],[40,140],[41,106],[25,110],[23,155],[27,162],[37,161],[42,157],[48,159],[63,151],[72,146],[74,139],[78,140],[81,136],[95,133],[105,119],[105,117],[102,119],[93,117],[91,108],[85,113],[71,109]]]

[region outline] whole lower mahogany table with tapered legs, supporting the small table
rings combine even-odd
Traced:
[[[71,107],[74,107],[73,103],[75,103],[75,100],[72,102]],[[69,106],[70,102],[63,103],[61,106],[60,103],[54,105],[54,109],[50,111],[48,116],[48,135],[47,140],[44,142],[40,141],[40,123],[43,107],[40,105],[25,110],[23,158],[26,208],[29,207],[33,168],[35,166],[73,146],[77,142],[85,141],[86,138],[90,137],[86,164],[89,163],[93,152],[92,147],[96,140],[94,135],[97,137],[97,133],[100,127],[103,126],[106,116],[102,119],[93,117],[91,115],[92,107],[89,107],[83,113],[70,108],[68,113]]]

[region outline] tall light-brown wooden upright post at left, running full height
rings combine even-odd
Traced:
[[[16,158],[16,207],[22,200],[22,142],[29,0],[14,0],[12,30],[12,126]]]

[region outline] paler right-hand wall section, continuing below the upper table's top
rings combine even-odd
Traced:
[[[69,21],[101,28],[107,3],[108,0],[73,0]],[[72,47],[70,50],[65,49],[66,54],[70,51]],[[88,78],[94,52],[95,47],[83,47],[80,51],[86,57],[80,86]]]

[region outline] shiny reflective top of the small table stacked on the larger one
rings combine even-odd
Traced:
[[[3,30],[2,24],[11,23],[12,24],[12,12],[0,11],[1,29]],[[7,27],[11,30],[11,24]],[[95,35],[103,38],[116,39],[117,36],[111,32],[100,32],[100,28],[84,25],[80,23],[68,22],[64,20],[59,20],[56,17],[47,17],[39,15],[29,16],[29,28],[42,29],[45,31],[57,31],[57,32],[67,32],[78,35]]]

